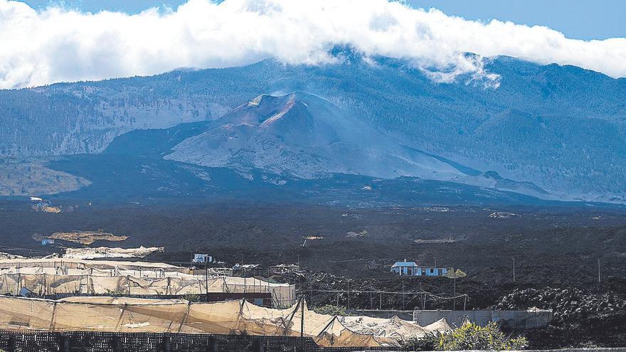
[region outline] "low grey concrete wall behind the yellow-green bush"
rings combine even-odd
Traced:
[[[466,318],[473,323],[485,325],[497,321],[502,329],[540,329],[552,320],[552,311],[413,311],[413,321],[421,326],[445,318],[450,325],[460,326]]]

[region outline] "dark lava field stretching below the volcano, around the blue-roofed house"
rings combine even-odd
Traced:
[[[351,308],[409,310],[423,304],[417,293],[422,289],[440,297],[456,292],[467,294],[467,301],[428,299],[425,308],[452,309],[455,304],[460,309],[465,303],[467,309],[554,309],[558,319],[553,326],[527,334],[537,348],[618,346],[626,340],[622,208],[257,203],[107,207],[80,203],[73,208],[41,213],[23,201],[2,201],[0,252],[47,255],[60,248],[44,247],[33,235],[102,229],[129,239],[92,246],[165,247],[164,253],[147,260],[189,262],[193,252],[210,253],[226,266],[243,262],[266,268],[299,260],[305,274],[277,279],[295,282],[314,305],[339,302]],[[393,276],[389,267],[403,259],[423,265],[436,261],[437,266],[455,267],[467,276],[455,283],[446,277]],[[393,294],[375,299],[366,293],[323,292],[401,289],[416,294],[403,300]]]

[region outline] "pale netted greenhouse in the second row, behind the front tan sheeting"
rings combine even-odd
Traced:
[[[252,277],[224,277],[159,262],[63,258],[0,260],[0,294],[23,287],[38,296],[55,294],[184,296],[209,293],[270,293],[275,306],[296,301],[295,286]]]

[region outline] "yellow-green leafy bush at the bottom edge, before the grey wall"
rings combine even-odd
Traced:
[[[500,331],[498,324],[489,321],[487,326],[466,322],[460,328],[440,336],[437,351],[459,350],[521,350],[528,345],[524,337],[511,338]]]

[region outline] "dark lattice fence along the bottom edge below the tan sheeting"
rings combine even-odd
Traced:
[[[0,330],[0,349],[8,352],[137,351],[137,352],[349,352],[389,348],[323,348],[310,337],[172,333],[107,333],[97,331]],[[397,351],[397,348],[394,348]]]

